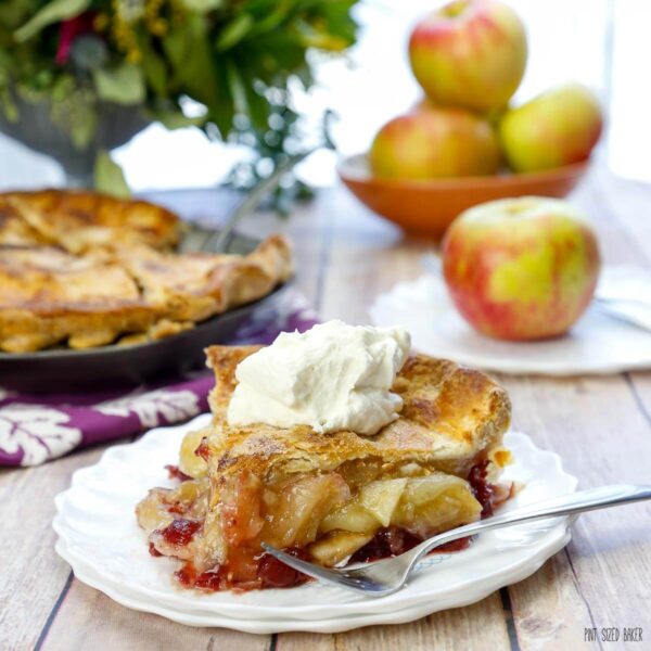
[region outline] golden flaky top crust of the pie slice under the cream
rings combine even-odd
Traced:
[[[399,418],[375,436],[317,434],[308,426],[283,430],[263,423],[229,426],[226,410],[237,384],[235,368],[256,349],[212,346],[206,350],[216,376],[208,439],[215,476],[244,470],[256,474],[324,471],[355,459],[416,461],[465,476],[483,455],[501,444],[510,422],[509,397],[492,378],[452,361],[413,355],[393,387],[404,399]]]

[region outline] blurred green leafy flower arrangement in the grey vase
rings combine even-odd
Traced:
[[[85,150],[101,105],[133,107],[248,143],[277,166],[296,122],[290,88],[312,84],[310,50],[355,41],[356,1],[5,0],[0,114],[16,123],[21,104],[47,102],[51,123]]]

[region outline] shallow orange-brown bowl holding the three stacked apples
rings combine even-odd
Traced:
[[[346,187],[378,215],[414,235],[439,240],[465,208],[508,196],[565,196],[585,176],[588,161],[546,171],[420,181],[373,177],[365,154],[337,165]]]

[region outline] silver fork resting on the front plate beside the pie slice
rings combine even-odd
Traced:
[[[584,511],[605,509],[646,499],[651,499],[651,486],[617,484],[600,488],[588,488],[587,490],[529,505],[503,515],[494,515],[493,518],[486,518],[485,520],[460,526],[424,540],[413,549],[395,558],[366,563],[361,566],[350,569],[329,570],[308,563],[307,561],[302,561],[266,542],[263,542],[263,547],[278,560],[308,576],[314,576],[320,580],[354,590],[355,592],[361,592],[369,597],[386,597],[399,590],[407,583],[409,575],[422,557],[445,542],[490,529],[513,526],[523,522],[545,520],[559,515],[572,515],[574,513],[583,513]]]

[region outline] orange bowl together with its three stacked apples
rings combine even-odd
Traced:
[[[439,240],[463,210],[498,199],[562,197],[587,171],[603,118],[578,84],[510,106],[527,59],[524,26],[499,0],[456,0],[414,27],[424,99],[385,124],[344,184],[409,233]]]

